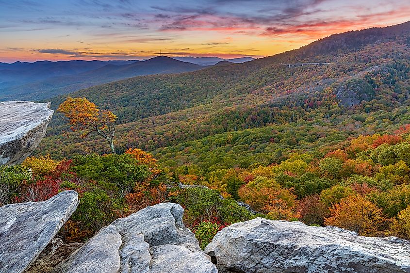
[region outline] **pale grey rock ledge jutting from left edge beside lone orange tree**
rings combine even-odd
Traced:
[[[21,163],[46,134],[53,115],[49,103],[0,102],[0,165]]]

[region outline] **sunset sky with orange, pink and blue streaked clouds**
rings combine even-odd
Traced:
[[[262,57],[410,20],[410,0],[0,0],[0,62]]]

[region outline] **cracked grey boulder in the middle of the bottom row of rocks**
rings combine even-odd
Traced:
[[[178,204],[161,203],[115,220],[54,272],[217,273]]]

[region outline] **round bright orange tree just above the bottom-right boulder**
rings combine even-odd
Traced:
[[[381,209],[357,194],[349,195],[334,205],[325,225],[342,227],[359,235],[376,236],[386,221]]]

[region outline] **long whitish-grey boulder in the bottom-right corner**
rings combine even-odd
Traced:
[[[225,227],[205,252],[219,272],[410,272],[409,241],[263,218]]]

